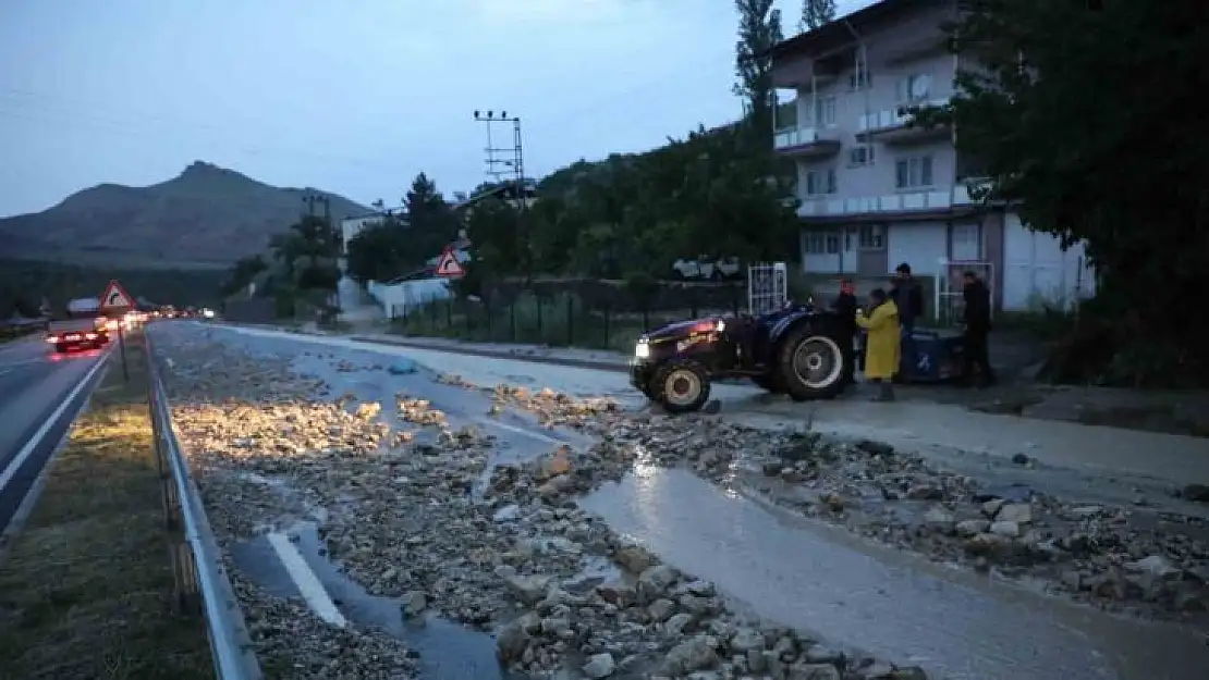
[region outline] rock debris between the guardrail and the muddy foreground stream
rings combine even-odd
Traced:
[[[322,518],[331,557],[370,593],[401,598],[400,617],[434,610],[494,630],[501,659],[532,676],[569,667],[590,678],[925,678],[747,621],[711,583],[578,510],[573,494],[632,459],[615,443],[491,470],[492,437],[449,429],[423,400],[399,395],[398,422],[383,423],[380,403],[325,394],[284,358],[172,339],[158,347],[175,366],[175,425],[224,541]],[[540,406],[551,425],[598,428],[618,415],[608,401],[499,394]],[[261,653],[289,658],[300,675],[413,668],[401,643],[366,632],[354,645],[348,630],[251,583],[238,591]]]

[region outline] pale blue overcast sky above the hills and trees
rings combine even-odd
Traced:
[[[0,0],[0,215],[195,159],[363,203],[421,170],[469,190],[475,109],[522,117],[540,178],[737,117],[735,30],[730,0]]]

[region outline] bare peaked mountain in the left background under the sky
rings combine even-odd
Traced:
[[[206,268],[268,246],[303,210],[305,196],[328,197],[332,219],[369,213],[342,196],[282,188],[195,162],[161,184],[103,184],[58,205],[0,219],[5,257],[79,265]],[[322,209],[322,208],[319,208]]]

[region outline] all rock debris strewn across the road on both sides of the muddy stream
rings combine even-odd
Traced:
[[[488,397],[487,418],[526,412],[534,428],[597,442],[498,464],[496,437],[455,428],[422,395],[383,405],[293,372],[287,354],[164,339],[177,428],[220,539],[314,522],[323,550],[370,594],[398,598],[400,617],[439,614],[492,630],[504,663],[531,676],[575,676],[556,675],[563,668],[588,678],[925,676],[741,616],[713,585],[577,507],[579,494],[636,465],[683,465],[868,539],[1039,581],[1099,608],[1209,621],[1207,527],[1194,518],[985,487],[878,442],[626,412],[607,399],[441,376]],[[388,364],[376,370],[395,373]],[[401,640],[332,628],[232,571],[264,656],[306,676],[416,673]]]

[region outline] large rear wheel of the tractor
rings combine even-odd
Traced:
[[[792,329],[777,348],[776,371],[794,401],[834,399],[846,387],[840,333],[832,324],[810,320]]]

